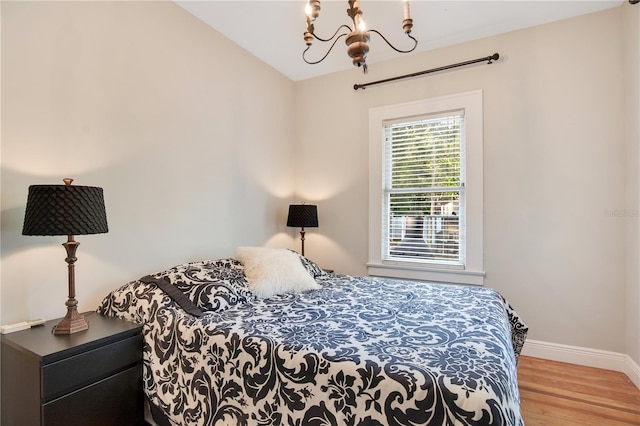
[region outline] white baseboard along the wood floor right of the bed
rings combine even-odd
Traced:
[[[640,366],[626,354],[527,340],[522,348],[522,355],[620,371],[626,374],[640,388]]]

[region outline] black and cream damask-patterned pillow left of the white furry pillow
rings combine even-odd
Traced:
[[[203,311],[222,311],[254,299],[236,259],[184,263],[153,277],[167,279]]]

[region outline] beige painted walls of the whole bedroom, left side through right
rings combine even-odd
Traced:
[[[28,185],[66,176],[104,188],[110,226],[77,238],[82,310],[237,245],[297,247],[294,189],[319,205],[309,257],[364,274],[369,109],[482,89],[486,285],[532,339],[640,361],[638,218],[610,214],[638,209],[640,7],[295,84],[170,2],[1,7],[3,324],[64,313],[64,238],[20,232]]]

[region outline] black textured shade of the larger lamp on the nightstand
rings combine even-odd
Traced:
[[[31,185],[22,235],[86,235],[108,232],[102,188]]]

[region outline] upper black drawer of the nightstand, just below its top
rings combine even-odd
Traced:
[[[142,335],[129,337],[42,367],[42,402],[110,376],[142,359]]]

